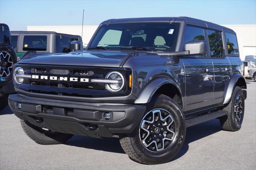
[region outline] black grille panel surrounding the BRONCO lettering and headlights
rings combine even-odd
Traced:
[[[104,97],[104,96],[127,96],[131,92],[131,88],[127,85],[126,78],[132,74],[129,68],[98,68],[98,67],[74,67],[74,66],[49,66],[36,65],[28,66],[27,64],[16,64],[24,70],[24,74],[38,76],[62,76],[68,77],[68,81],[60,80],[37,80],[32,78],[24,78],[24,81],[18,88],[28,92],[52,94],[62,96],[79,96],[79,97]],[[109,92],[105,88],[104,83],[99,82],[72,82],[70,78],[88,78],[104,79],[111,71],[118,71],[125,78],[125,85],[122,90],[116,93]],[[55,73],[55,74],[53,74]],[[50,79],[50,78],[49,78]]]

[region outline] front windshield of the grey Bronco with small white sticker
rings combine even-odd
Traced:
[[[178,23],[102,25],[87,49],[175,51],[179,27]]]

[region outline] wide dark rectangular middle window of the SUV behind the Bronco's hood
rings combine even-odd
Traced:
[[[23,51],[46,51],[47,36],[24,36]]]

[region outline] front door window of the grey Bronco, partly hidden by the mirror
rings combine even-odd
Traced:
[[[184,45],[186,43],[190,42],[190,41],[199,41],[199,40],[205,40],[204,29],[197,28],[197,27],[192,27],[192,26],[187,26]],[[206,55],[197,56],[197,57],[206,57]]]

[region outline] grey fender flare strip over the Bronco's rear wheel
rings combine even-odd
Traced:
[[[244,78],[244,76],[242,76],[241,74],[234,74],[232,76],[232,78],[230,78],[228,85],[225,88],[225,92],[224,92],[224,102],[223,104],[228,104],[228,102],[230,101],[236,82],[242,78],[242,80],[244,80],[244,84],[245,84],[245,88],[246,88],[246,80]]]

